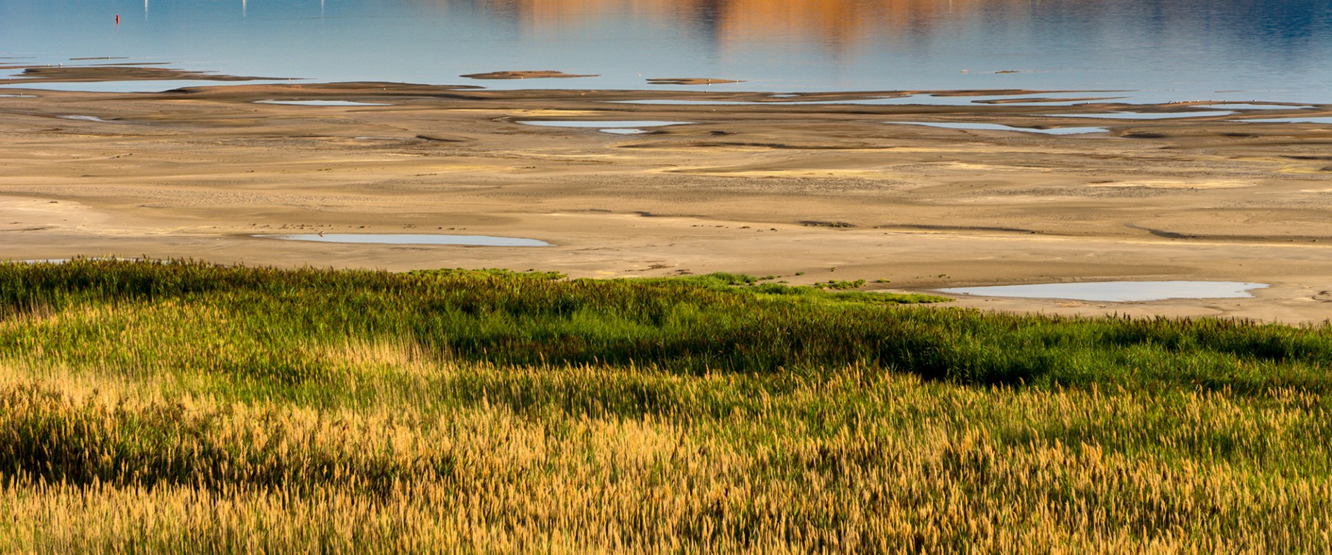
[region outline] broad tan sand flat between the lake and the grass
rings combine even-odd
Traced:
[[[0,97],[3,258],[500,266],[575,277],[725,270],[791,283],[867,279],[867,289],[908,291],[1252,281],[1271,287],[1251,299],[964,298],[954,305],[1283,322],[1332,315],[1332,128],[1237,121],[1329,116],[1332,105],[1126,120],[1096,114],[1215,109],[1205,102],[1070,106],[994,98],[1028,91],[938,92],[984,100],[956,106],[791,104],[903,92],[774,96],[389,83],[21,93],[36,96]],[[254,104],[260,100],[390,105]],[[615,102],[625,100],[701,102]],[[1055,114],[1086,117],[1046,117]],[[561,118],[694,124],[630,136],[517,124]],[[892,121],[1108,130],[1054,136],[887,125]],[[317,232],[525,237],[557,246],[253,237]]]

